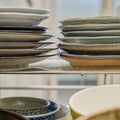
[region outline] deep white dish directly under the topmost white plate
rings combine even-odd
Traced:
[[[0,13],[0,26],[34,26],[49,16],[27,13]]]

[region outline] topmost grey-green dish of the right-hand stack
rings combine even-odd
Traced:
[[[69,18],[60,21],[63,25],[78,25],[78,24],[113,24],[120,23],[119,17],[93,17],[93,18]]]

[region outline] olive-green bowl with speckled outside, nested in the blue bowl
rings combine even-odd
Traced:
[[[48,100],[32,97],[8,97],[0,100],[0,108],[21,115],[38,115],[49,112]]]

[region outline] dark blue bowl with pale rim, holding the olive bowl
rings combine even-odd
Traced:
[[[55,116],[56,113],[59,111],[60,105],[50,101],[50,106],[49,106],[49,112],[45,114],[39,114],[39,115],[31,115],[31,116],[25,116],[26,118],[30,120],[56,120]]]

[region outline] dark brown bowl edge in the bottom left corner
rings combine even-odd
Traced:
[[[27,120],[21,115],[0,109],[0,120]]]

